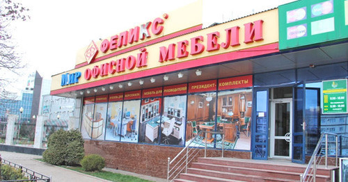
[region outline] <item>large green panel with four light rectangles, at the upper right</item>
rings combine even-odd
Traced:
[[[279,6],[279,49],[348,39],[348,0],[301,0]]]

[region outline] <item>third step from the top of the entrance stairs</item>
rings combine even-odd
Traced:
[[[223,179],[232,179],[232,180],[239,180],[239,181],[274,181],[274,182],[294,181],[292,179],[291,180],[290,179],[276,179],[276,178],[265,177],[265,176],[235,174],[235,173],[230,173],[230,172],[218,172],[218,171],[212,171],[212,170],[206,170],[206,169],[196,169],[196,168],[189,168],[189,169],[187,169],[187,172],[189,174],[199,174],[199,175],[213,176],[213,177],[219,177],[219,178],[223,178]]]

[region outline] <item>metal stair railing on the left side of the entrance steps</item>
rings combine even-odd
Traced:
[[[205,133],[205,139],[201,139],[201,135]],[[222,147],[221,147],[221,157],[223,158],[223,151],[225,145],[225,135],[222,132],[215,131],[200,131],[196,135],[195,138],[187,144],[184,149],[182,149],[179,154],[177,154],[173,160],[168,158],[168,166],[167,166],[167,181],[173,181],[180,173],[184,170],[187,173],[187,166],[195,157],[199,154],[200,149],[204,147],[204,157],[207,157],[207,142],[208,138],[207,133],[211,133],[212,135],[220,134],[222,136]]]

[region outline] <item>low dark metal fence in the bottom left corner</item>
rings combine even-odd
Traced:
[[[9,180],[9,181],[47,181],[47,182],[52,181],[52,177],[45,176],[38,172],[34,172],[33,170],[23,167],[22,165],[17,165],[16,163],[5,160],[1,158],[1,156],[0,156],[0,160],[1,160],[1,163],[4,165],[10,165],[11,167],[21,169],[22,173],[24,173],[24,176],[28,178],[28,179]],[[1,182],[4,182],[4,181],[1,181]]]

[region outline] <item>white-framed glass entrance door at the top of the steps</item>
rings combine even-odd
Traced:
[[[271,158],[292,157],[292,99],[271,101]]]

